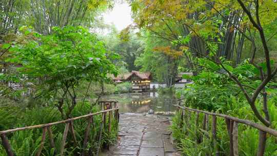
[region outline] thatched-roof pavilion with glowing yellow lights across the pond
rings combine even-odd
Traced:
[[[133,84],[132,90],[135,92],[147,91],[150,89],[151,73],[133,70],[130,73],[113,76],[112,79],[115,83],[131,82]]]

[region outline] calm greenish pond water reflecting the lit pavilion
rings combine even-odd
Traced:
[[[159,94],[157,92],[111,94],[103,97],[105,100],[116,100],[120,112],[147,113],[150,109],[155,113],[167,113],[176,110],[174,94]]]

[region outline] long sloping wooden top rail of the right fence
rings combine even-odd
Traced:
[[[232,121],[235,121],[235,122],[238,122],[238,123],[242,123],[242,124],[254,127],[256,129],[262,130],[262,131],[264,131],[266,133],[269,133],[271,135],[277,136],[277,130],[265,127],[265,126],[257,124],[257,123],[253,123],[249,120],[239,119],[239,118],[235,118],[233,116],[220,114],[220,113],[212,113],[212,112],[208,112],[208,111],[204,111],[204,110],[197,110],[197,109],[188,108],[188,107],[181,107],[179,105],[175,105],[175,106],[180,107],[182,109],[189,110],[189,111],[202,112],[202,113],[209,114],[209,115],[219,116],[221,118],[225,118],[225,119],[229,119],[229,120],[232,120]]]

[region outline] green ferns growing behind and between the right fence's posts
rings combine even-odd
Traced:
[[[242,114],[232,113],[234,116],[238,116],[241,119],[249,119],[248,109],[242,109]],[[274,109],[277,110],[276,108]],[[198,125],[195,124],[196,113],[189,113],[186,111],[183,122],[181,121],[181,111],[177,112],[172,119],[172,136],[177,142],[177,146],[182,150],[184,155],[214,155],[212,133],[211,131],[205,131],[202,128],[203,114],[200,113],[198,118]],[[180,127],[180,124],[182,126]],[[209,123],[212,123],[212,119],[209,118]],[[219,149],[220,155],[229,154],[229,134],[227,132],[225,120],[217,118],[217,148]],[[209,126],[211,129],[211,124]],[[239,124],[239,153],[240,155],[256,155],[258,150],[259,142],[259,130],[250,128],[243,124]],[[275,137],[268,135],[266,151],[264,155],[275,155],[276,154],[276,143]]]

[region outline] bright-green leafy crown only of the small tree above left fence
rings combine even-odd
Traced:
[[[54,27],[53,31],[52,35],[35,32],[25,35],[34,40],[13,47],[14,57],[9,61],[22,64],[18,70],[31,79],[47,75],[47,82],[57,87],[66,80],[96,81],[100,77],[104,79],[107,72],[116,74],[105,56],[104,43],[87,29],[67,26]]]

